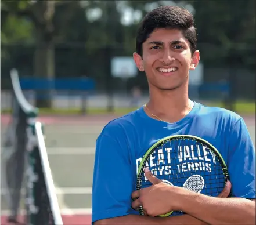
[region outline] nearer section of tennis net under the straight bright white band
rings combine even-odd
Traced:
[[[62,225],[42,128],[28,126],[27,224]]]

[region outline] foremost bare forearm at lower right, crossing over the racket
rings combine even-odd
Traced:
[[[186,197],[184,203],[182,211],[208,224],[255,224],[255,201],[195,193]]]

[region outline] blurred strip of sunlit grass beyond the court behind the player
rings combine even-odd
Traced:
[[[225,108],[221,102],[209,101],[205,103],[207,106],[215,106]],[[134,111],[136,108],[114,108],[113,112],[108,112],[107,108],[88,108],[87,115],[104,115],[104,114],[116,114],[124,115],[128,112]],[[9,114],[9,110],[2,110],[3,114]],[[238,114],[255,114],[255,102],[237,101],[235,103],[234,111]],[[81,115],[80,108],[39,108],[40,115]]]

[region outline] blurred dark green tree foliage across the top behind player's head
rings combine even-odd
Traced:
[[[42,3],[39,5],[40,2],[56,4],[49,16],[51,26],[39,21],[40,15],[47,19],[42,13],[44,10],[39,10],[38,6],[45,7]],[[104,74],[109,72],[107,57],[132,56],[139,21],[158,5],[180,5],[193,12],[198,48],[205,66],[226,68],[235,65],[255,70],[254,0],[3,0],[1,3],[1,42],[5,49],[2,56],[10,56],[10,45],[16,44],[19,51],[15,54],[19,55],[27,48],[25,45],[35,43],[38,26],[44,25],[49,32],[52,27],[54,34],[50,34],[55,44],[57,76],[89,74],[95,79],[104,79]],[[6,65],[13,64],[17,55],[12,53]],[[1,70],[9,70],[2,67]]]

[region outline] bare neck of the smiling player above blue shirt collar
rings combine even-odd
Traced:
[[[188,96],[188,84],[174,90],[150,87],[149,97],[146,113],[154,119],[157,118],[151,114],[166,122],[177,122],[192,109]]]

